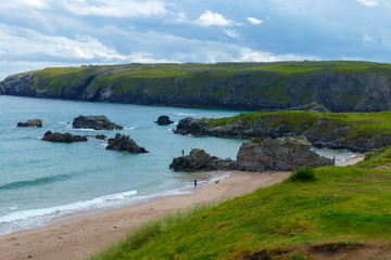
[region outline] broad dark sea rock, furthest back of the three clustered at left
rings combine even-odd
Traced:
[[[78,116],[72,123],[73,128],[89,128],[94,130],[122,130],[124,127],[118,126],[106,116]]]

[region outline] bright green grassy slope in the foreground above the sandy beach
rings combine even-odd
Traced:
[[[390,154],[388,147],[366,160],[383,161]],[[298,248],[311,245],[390,243],[391,170],[365,162],[316,168],[311,182],[285,181],[150,222],[92,259],[237,259],[263,250],[300,259]]]

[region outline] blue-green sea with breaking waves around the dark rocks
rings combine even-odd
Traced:
[[[173,158],[202,148],[220,158],[236,159],[244,140],[175,134],[186,117],[222,118],[242,110],[146,106],[0,95],[0,235],[45,226],[79,216],[141,204],[162,196],[190,194],[193,180],[205,185],[230,172],[175,172]],[[124,130],[73,129],[79,115],[105,115]],[[157,126],[161,115],[174,123]],[[41,119],[42,128],[17,128],[20,121]],[[45,132],[91,135],[88,142],[41,141]],[[92,135],[128,134],[150,153],[105,150],[106,141]],[[337,164],[355,155],[349,151],[317,150]]]

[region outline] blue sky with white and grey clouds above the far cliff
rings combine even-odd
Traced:
[[[391,0],[1,0],[0,80],[45,67],[391,63]]]

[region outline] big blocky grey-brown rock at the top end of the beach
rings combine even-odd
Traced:
[[[331,165],[331,159],[311,150],[311,143],[291,136],[244,142],[237,156],[237,169],[244,171],[289,171],[292,166]]]

